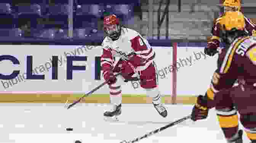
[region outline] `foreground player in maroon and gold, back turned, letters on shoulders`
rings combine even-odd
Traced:
[[[242,143],[238,112],[247,137],[256,143],[256,37],[245,30],[246,22],[239,11],[226,12],[219,25],[220,37],[229,47],[220,53],[211,82],[214,102],[208,100],[208,93],[198,96],[192,119],[205,119],[214,106],[227,142]],[[232,87],[236,80],[239,85]]]

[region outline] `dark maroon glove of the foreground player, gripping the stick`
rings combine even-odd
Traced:
[[[207,108],[206,96],[199,95],[197,97],[197,103],[193,107],[191,113],[191,119],[197,121],[199,119],[205,119],[208,116],[209,109]]]

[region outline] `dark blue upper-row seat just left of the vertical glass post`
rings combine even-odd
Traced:
[[[45,28],[54,28],[56,25],[60,25],[59,28],[68,27],[68,5],[53,5],[49,6],[49,21],[51,24],[45,25]]]

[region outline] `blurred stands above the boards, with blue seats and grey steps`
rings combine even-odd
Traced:
[[[255,1],[241,3],[254,21]],[[102,40],[109,14],[147,39],[206,40],[221,5],[222,0],[1,0],[0,42]]]

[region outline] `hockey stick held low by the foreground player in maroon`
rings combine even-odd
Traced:
[[[168,127],[171,127],[171,126],[174,126],[174,125],[176,125],[176,124],[179,124],[179,123],[181,123],[181,122],[183,122],[183,121],[185,121],[185,120],[187,120],[187,119],[190,119],[190,118],[191,118],[191,115],[186,116],[186,117],[184,117],[184,118],[182,118],[182,119],[179,119],[179,120],[177,120],[177,121],[175,121],[175,122],[173,122],[173,123],[170,123],[170,124],[168,124],[168,125],[165,125],[165,126],[163,126],[163,127],[158,128],[158,129],[156,129],[156,130],[154,130],[154,131],[152,131],[152,132],[149,132],[149,133],[143,135],[142,137],[138,137],[138,138],[135,138],[134,140],[130,140],[130,141],[124,140],[124,141],[121,141],[120,143],[134,143],[134,142],[136,142],[136,141],[141,140],[142,138],[147,138],[147,137],[149,137],[149,136],[151,136],[151,135],[153,135],[153,134],[156,134],[156,133],[158,133],[158,132],[160,132],[160,131],[162,131],[162,130],[167,129]]]

